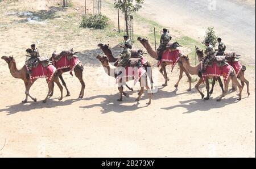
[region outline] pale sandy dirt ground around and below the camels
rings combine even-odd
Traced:
[[[23,104],[24,84],[11,77],[1,60],[0,157],[255,157],[255,67],[246,71],[251,95],[247,97],[243,90],[240,102],[236,101],[237,92],[216,102],[221,94],[218,84],[209,101],[201,100],[194,88],[187,92],[185,75],[175,88],[177,67],[173,73],[168,68],[171,80],[164,88],[164,79],[155,67],[159,91],[151,105],[146,105],[147,94],[135,102],[138,84],[134,92],[128,91],[130,98],[117,102],[115,80],[107,77],[96,56],[101,53],[98,43],[114,47],[120,37],[78,28],[79,17],[72,15],[80,16],[81,2],[74,0],[73,8],[67,10],[57,7],[57,2],[19,0],[1,6],[0,56],[13,55],[20,68],[24,50],[31,43],[36,43],[44,56],[73,47],[85,66],[85,98],[77,99],[80,82],[66,73],[71,96],[58,101],[60,92],[55,88],[53,97],[43,104],[47,84],[39,79],[30,91],[38,102]],[[30,14],[18,15],[17,11],[44,20],[28,21]]]

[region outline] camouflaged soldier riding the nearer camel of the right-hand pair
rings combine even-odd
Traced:
[[[213,64],[214,58],[216,57],[215,50],[214,50],[213,46],[210,45],[209,41],[205,42],[205,46],[207,48],[205,49],[205,58],[203,61],[201,73],[204,72],[204,70],[207,68],[207,66],[210,66]]]

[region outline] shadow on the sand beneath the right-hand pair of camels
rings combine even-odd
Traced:
[[[161,108],[165,110],[171,110],[174,108],[185,108],[187,109],[187,112],[184,112],[183,114],[189,114],[194,113],[196,111],[201,112],[207,112],[211,109],[218,109],[225,107],[226,105],[232,105],[236,104],[237,101],[234,96],[232,98],[225,99],[223,98],[221,102],[217,102],[216,99],[210,98],[210,100],[204,100],[204,99],[192,99],[192,100],[186,100],[186,101],[180,101],[178,105],[174,105],[171,107]]]

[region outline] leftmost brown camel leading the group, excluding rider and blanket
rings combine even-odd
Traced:
[[[24,65],[22,67],[22,69],[18,70],[17,67],[16,67],[16,61],[14,60],[13,56],[10,56],[10,57],[7,57],[7,56],[2,56],[1,57],[2,60],[5,60],[6,63],[8,64],[9,66],[9,69],[10,69],[10,73],[11,75],[14,77],[14,78],[17,78],[17,79],[22,79],[24,81],[24,84],[25,84],[25,87],[26,87],[26,91],[25,91],[25,94],[26,94],[26,98],[25,100],[22,101],[22,103],[27,103],[27,99],[28,99],[28,96],[34,101],[36,102],[36,98],[33,98],[29,91],[30,91],[30,88],[32,86],[32,82],[29,78],[29,75],[27,73],[27,67],[26,65]],[[36,79],[34,80],[34,82],[36,81]],[[51,92],[53,91],[53,82],[55,82],[57,84],[57,86],[59,86],[60,88],[60,93],[61,93],[61,96],[59,98],[59,100],[62,100],[63,99],[63,87],[61,86],[60,82],[59,82],[59,78],[56,76],[56,72],[55,72],[55,75],[53,75],[51,81],[48,83],[48,94],[46,96],[46,99],[43,100],[43,103],[46,103],[47,102],[47,99],[49,97],[49,94],[51,94]]]

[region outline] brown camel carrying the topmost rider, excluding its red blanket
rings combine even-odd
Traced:
[[[141,37],[138,37],[137,39],[142,45],[143,47],[147,50],[147,53],[152,57],[152,58],[157,58],[158,54],[157,52],[152,49],[150,42],[147,39],[142,39]],[[169,50],[169,49],[167,49]],[[161,68],[160,68],[160,73],[163,75],[164,79],[166,79],[165,83],[163,84],[163,86],[167,86],[168,85],[168,81],[170,81],[170,79],[167,77],[167,71],[166,71],[166,66],[170,65],[170,62],[162,62],[161,64]],[[189,75],[189,73],[184,69],[183,65],[179,63],[179,67],[180,67],[180,75],[179,75],[179,81],[177,81],[177,83],[175,84],[175,87],[179,86],[180,80],[183,77],[183,72],[185,72],[185,74],[188,77],[188,81],[189,81],[189,88],[187,89],[187,91],[191,91],[191,82],[192,82],[192,78]]]

